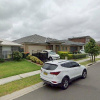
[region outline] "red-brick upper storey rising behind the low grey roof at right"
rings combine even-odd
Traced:
[[[90,36],[82,36],[82,37],[73,37],[73,38],[69,38],[69,41],[73,41],[73,42],[82,42],[82,43],[88,43],[90,41],[91,37]]]

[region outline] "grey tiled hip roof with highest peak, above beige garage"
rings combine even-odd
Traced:
[[[46,44],[46,43],[53,43],[53,42],[58,42],[60,43],[59,40],[57,39],[53,39],[53,38],[47,38],[47,37],[43,37],[37,34],[31,35],[31,36],[27,36],[27,37],[23,37],[20,38],[18,40],[14,40],[14,42],[16,43],[40,43],[40,44]]]

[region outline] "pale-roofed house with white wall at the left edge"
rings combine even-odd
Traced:
[[[12,53],[14,51],[18,51],[20,46],[21,44],[0,39],[0,58],[3,59],[12,58]]]

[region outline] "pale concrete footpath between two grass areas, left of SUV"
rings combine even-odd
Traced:
[[[0,85],[3,85],[3,84],[8,83],[8,82],[15,81],[15,80],[19,80],[19,79],[22,79],[22,78],[25,78],[25,77],[40,74],[40,72],[41,71],[38,70],[38,71],[33,71],[33,72],[28,72],[28,73],[24,73],[24,74],[19,74],[19,75],[3,78],[3,79],[0,79]]]

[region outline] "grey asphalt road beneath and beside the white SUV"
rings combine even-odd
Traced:
[[[86,79],[78,79],[67,90],[44,86],[15,100],[100,100],[100,63],[88,68]]]

